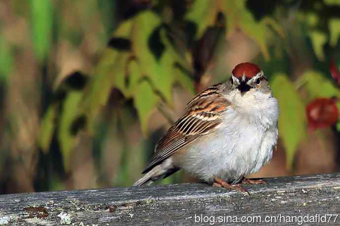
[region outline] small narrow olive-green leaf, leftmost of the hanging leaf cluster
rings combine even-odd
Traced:
[[[42,119],[38,142],[44,153],[48,152],[55,129],[58,105],[50,105]]]

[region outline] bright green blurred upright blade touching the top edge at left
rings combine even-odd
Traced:
[[[52,42],[53,4],[51,0],[31,0],[32,42],[38,60],[43,61]]]

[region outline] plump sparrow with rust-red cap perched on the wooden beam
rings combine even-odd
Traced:
[[[186,113],[158,141],[145,175],[134,186],[179,169],[240,192],[247,192],[240,183],[266,183],[245,176],[271,161],[278,116],[278,101],[264,72],[252,63],[238,64],[227,82],[207,88],[186,105]]]

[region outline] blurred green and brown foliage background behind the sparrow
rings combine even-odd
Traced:
[[[340,0],[0,0],[0,194],[130,186],[185,104],[247,61],[280,104],[274,158],[252,176],[339,171],[339,12]]]

